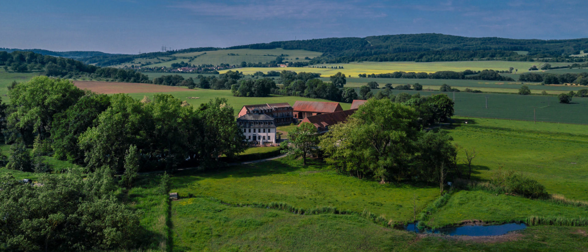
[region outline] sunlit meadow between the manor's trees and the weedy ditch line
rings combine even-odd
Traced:
[[[282,158],[219,172],[181,173],[172,179],[172,190],[182,196],[213,196],[229,203],[285,202],[304,209],[335,206],[355,212],[366,209],[395,221],[412,219],[413,195],[421,207],[439,194],[434,186],[379,185],[326,171],[322,163],[306,168],[300,164]]]

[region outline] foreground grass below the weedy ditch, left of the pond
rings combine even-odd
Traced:
[[[392,251],[414,239],[358,216],[303,216],[203,198],[172,202],[172,222],[173,251]]]

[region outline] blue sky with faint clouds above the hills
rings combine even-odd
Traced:
[[[0,47],[109,53],[401,33],[588,37],[588,1],[2,1]]]

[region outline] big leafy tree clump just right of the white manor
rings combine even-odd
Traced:
[[[303,123],[289,133],[290,145],[285,152],[302,156],[303,162],[306,155],[321,152],[337,172],[375,178],[380,183],[424,181],[443,188],[448,175],[469,176],[457,168],[460,148],[452,144],[449,135],[422,131],[419,120],[423,114],[438,122],[447,121],[453,115],[453,101],[445,94],[403,103],[371,98],[346,122],[329,126],[322,136],[313,125]]]

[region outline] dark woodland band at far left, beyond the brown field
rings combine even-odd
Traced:
[[[0,66],[6,71],[43,71],[46,76],[65,79],[88,77],[91,79],[150,83],[148,76],[135,70],[97,67],[66,57],[41,55],[34,52],[14,51],[8,53],[0,51]]]

